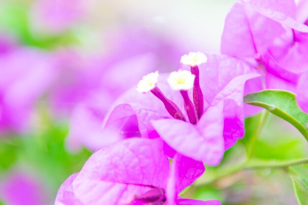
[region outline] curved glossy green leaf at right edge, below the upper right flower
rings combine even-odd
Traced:
[[[308,141],[308,114],[298,107],[294,93],[284,90],[263,90],[246,95],[244,102],[265,108],[290,122]]]

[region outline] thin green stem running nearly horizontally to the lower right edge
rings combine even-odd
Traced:
[[[231,167],[231,168],[226,168],[226,171],[222,171],[219,174],[216,174],[216,176],[205,179],[202,182],[200,181],[198,183],[198,181],[196,181],[196,183],[194,184],[194,187],[206,186],[208,184],[216,182],[217,180],[223,177],[234,175],[244,170],[277,169],[277,168],[287,168],[291,166],[304,165],[304,164],[308,164],[308,158],[298,159],[298,160],[289,160],[286,162],[274,162],[274,163],[273,162],[271,163],[269,162],[246,162],[246,163],[243,163],[243,164]]]

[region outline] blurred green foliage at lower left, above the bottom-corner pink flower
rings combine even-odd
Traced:
[[[64,142],[67,132],[65,123],[47,124],[46,121],[39,133],[18,138],[11,136],[0,142],[0,171],[13,165],[31,168],[55,195],[62,182],[79,172],[91,155],[86,149],[69,153]]]

